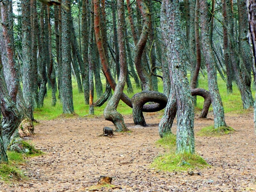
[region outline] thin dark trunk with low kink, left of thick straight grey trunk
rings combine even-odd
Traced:
[[[48,79],[51,82],[52,87],[52,106],[56,105],[56,85],[55,85],[55,69],[53,66],[53,58],[52,58],[52,27],[51,27],[51,17],[50,17],[50,6],[47,6],[47,18],[48,18],[48,36],[49,36],[49,57],[50,57],[50,65],[48,68]]]

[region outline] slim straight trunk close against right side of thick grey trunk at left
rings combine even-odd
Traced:
[[[31,41],[32,41],[32,69],[33,69],[33,76],[32,76],[32,85],[33,85],[33,107],[37,108],[38,106],[38,77],[37,77],[37,33],[38,33],[38,17],[37,17],[37,9],[36,9],[36,0],[31,0]]]

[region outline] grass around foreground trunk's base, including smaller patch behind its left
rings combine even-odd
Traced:
[[[209,166],[206,161],[199,155],[194,154],[176,154],[176,136],[167,134],[156,141],[158,147],[168,149],[169,152],[156,157],[151,164],[157,170],[161,171],[187,171],[189,169],[204,168]]]

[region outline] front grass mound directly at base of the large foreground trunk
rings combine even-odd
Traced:
[[[207,162],[197,154],[175,154],[174,151],[157,157],[152,167],[161,171],[188,171],[208,167]]]

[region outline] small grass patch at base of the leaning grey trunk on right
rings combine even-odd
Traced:
[[[197,135],[199,136],[207,136],[207,137],[218,137],[224,134],[231,134],[235,130],[232,127],[219,127],[219,128],[214,128],[214,126],[208,126],[202,128]]]

